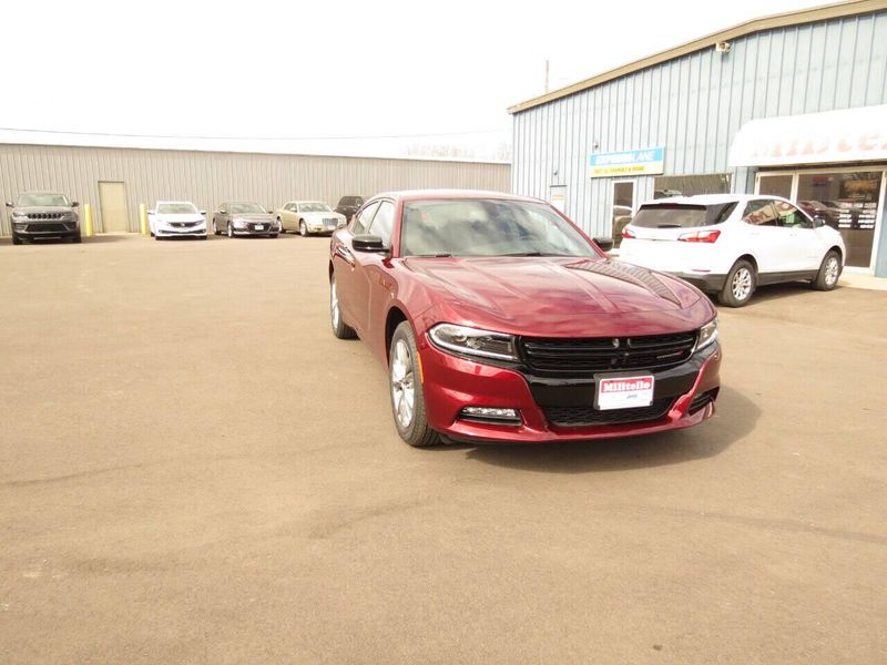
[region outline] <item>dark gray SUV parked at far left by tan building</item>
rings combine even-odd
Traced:
[[[79,205],[52,192],[26,192],[14,204],[7,201],[7,207],[12,211],[9,215],[12,244],[21,245],[37,238],[67,238],[79,243],[80,217],[74,209]]]

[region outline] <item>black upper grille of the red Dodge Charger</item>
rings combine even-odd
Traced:
[[[530,369],[588,374],[620,369],[657,370],[680,365],[696,346],[696,332],[643,337],[522,337],[519,347]]]

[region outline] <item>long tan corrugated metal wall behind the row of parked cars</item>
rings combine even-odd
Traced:
[[[101,181],[125,184],[130,229],[135,232],[139,204],[153,207],[157,200],[193,201],[212,211],[225,201],[278,206],[310,198],[336,205],[346,194],[422,187],[507,192],[510,168],[478,162],[0,144],[4,201],[27,190],[61,192],[92,204],[99,233]],[[9,234],[8,213],[1,228]]]

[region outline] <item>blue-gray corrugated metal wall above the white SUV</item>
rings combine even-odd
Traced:
[[[767,30],[517,113],[511,186],[548,198],[567,185],[568,216],[609,234],[613,178],[589,178],[592,152],[662,145],[665,175],[727,173],[750,120],[885,103],[887,12]],[[635,202],[652,197],[653,176],[638,177]]]

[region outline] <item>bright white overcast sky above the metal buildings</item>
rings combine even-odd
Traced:
[[[452,144],[485,157],[510,141],[506,109],[543,92],[546,60],[559,88],[817,4],[10,0],[0,127],[310,137],[299,145],[346,154]]]

